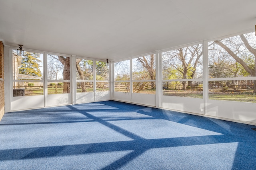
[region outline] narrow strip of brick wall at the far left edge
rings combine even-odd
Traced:
[[[4,115],[4,45],[0,41],[0,120]]]

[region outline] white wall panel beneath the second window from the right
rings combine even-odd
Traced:
[[[162,108],[204,114],[204,100],[198,98],[162,96]]]

